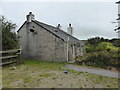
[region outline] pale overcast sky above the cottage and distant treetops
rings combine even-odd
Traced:
[[[0,3],[0,14],[17,24],[17,29],[32,11],[35,19],[53,26],[61,24],[67,31],[68,24],[73,27],[73,36],[88,39],[95,36],[115,38],[117,18],[115,2],[4,2]]]

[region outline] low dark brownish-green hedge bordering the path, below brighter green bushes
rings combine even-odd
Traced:
[[[108,51],[99,51],[99,52],[92,52],[86,55],[85,59],[82,59],[81,62],[84,62],[86,65],[92,65],[102,68],[107,67],[116,67],[118,68],[119,63],[118,59],[120,56],[117,55],[115,52],[108,52]]]

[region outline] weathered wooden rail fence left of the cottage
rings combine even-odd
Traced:
[[[0,51],[0,54],[2,56],[0,57],[0,60],[2,60],[0,65],[7,65],[7,64],[15,63],[15,62],[22,63],[21,49]]]

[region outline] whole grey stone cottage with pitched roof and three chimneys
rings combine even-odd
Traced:
[[[66,62],[83,55],[84,42],[72,36],[71,24],[67,33],[60,29],[60,24],[54,27],[35,20],[32,12],[26,18],[17,31],[23,58]]]

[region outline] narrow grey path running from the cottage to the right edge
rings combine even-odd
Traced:
[[[82,67],[78,65],[65,65],[65,67],[62,67],[62,69],[72,69],[75,71],[82,71],[82,72],[88,72],[88,73],[94,73],[97,75],[107,76],[107,77],[113,77],[113,78],[120,78],[120,72],[113,72],[110,70],[105,69],[93,69],[88,67]]]

